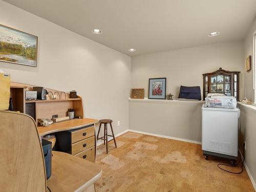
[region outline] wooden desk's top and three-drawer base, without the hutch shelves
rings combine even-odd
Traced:
[[[66,152],[80,158],[95,162],[97,119],[71,119],[53,123],[50,126],[38,126],[40,136],[55,133],[56,151]],[[84,134],[84,135],[83,135]]]

